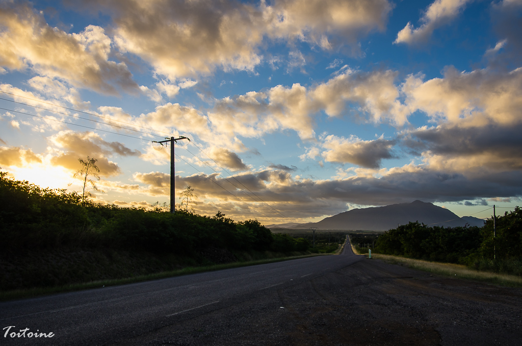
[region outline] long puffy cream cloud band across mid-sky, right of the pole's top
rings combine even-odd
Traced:
[[[330,117],[348,113],[356,119],[404,125],[414,109],[400,102],[396,76],[393,71],[348,70],[310,87],[293,84],[250,91],[218,100],[208,119],[214,131],[228,136],[293,130],[302,140],[315,136],[314,119],[321,111]]]

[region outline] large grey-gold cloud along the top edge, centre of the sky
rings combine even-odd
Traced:
[[[122,52],[149,62],[171,80],[224,71],[254,71],[265,40],[301,40],[332,49],[384,31],[392,5],[386,0],[281,0],[98,2],[114,20],[114,41]]]

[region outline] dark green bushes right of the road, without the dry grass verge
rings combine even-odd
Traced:
[[[410,222],[379,235],[375,251],[522,275],[522,209],[517,206],[495,220],[489,218],[483,227],[428,227]]]

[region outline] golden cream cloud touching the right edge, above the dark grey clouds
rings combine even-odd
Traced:
[[[402,92],[410,109],[421,110],[435,121],[485,126],[521,121],[521,88],[522,68],[511,72],[458,72],[448,67],[444,78],[423,82],[418,76],[409,76]]]

